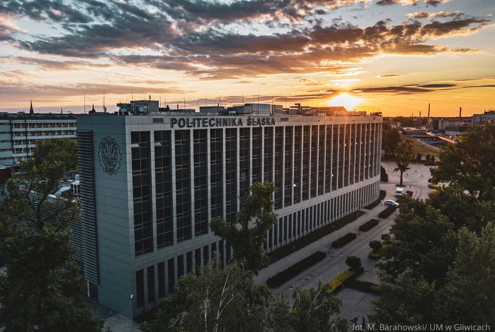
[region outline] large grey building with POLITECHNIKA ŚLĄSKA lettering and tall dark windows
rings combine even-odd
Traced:
[[[233,220],[252,183],[276,187],[267,252],[379,196],[380,116],[156,112],[80,115],[77,126],[84,273],[130,318],[214,252],[230,259],[208,222]]]

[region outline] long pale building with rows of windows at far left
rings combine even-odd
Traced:
[[[33,155],[37,141],[48,138],[76,140],[76,116],[0,113],[0,166],[19,165]]]

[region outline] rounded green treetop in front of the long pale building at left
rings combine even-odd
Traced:
[[[33,157],[37,167],[47,161],[60,161],[65,171],[78,169],[77,142],[71,139],[45,139],[36,142]]]

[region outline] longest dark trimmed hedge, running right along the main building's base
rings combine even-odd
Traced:
[[[267,253],[266,255],[270,259],[270,264],[273,262],[276,262],[277,260],[284,258],[285,256],[288,256],[292,254],[295,250],[294,247],[296,247],[296,251],[305,247],[308,244],[313,243],[314,241],[319,240],[320,238],[327,236],[331,234],[334,231],[340,230],[347,224],[350,224],[354,220],[356,220],[358,217],[362,216],[365,214],[364,211],[357,211],[359,216],[356,216],[355,213],[350,213],[345,217],[342,217],[341,219],[323,226],[322,228],[319,228],[317,230],[314,230],[313,232],[306,234],[303,237],[299,237],[297,240],[292,241],[284,246],[281,246],[280,248],[273,250],[272,252]]]

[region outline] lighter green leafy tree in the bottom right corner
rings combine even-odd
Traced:
[[[492,222],[478,236],[462,228],[457,256],[443,288],[447,320],[451,324],[495,326],[495,227]]]

